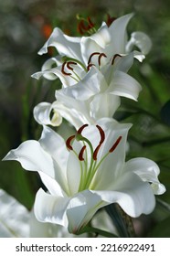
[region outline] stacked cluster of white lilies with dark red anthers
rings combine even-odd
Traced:
[[[34,109],[35,120],[43,125],[39,141],[26,141],[5,156],[37,171],[47,187],[37,191],[37,220],[64,226],[70,233],[79,233],[100,208],[112,203],[133,218],[149,214],[154,195],[165,192],[152,160],[125,161],[132,124],[113,118],[121,97],[137,101],[142,87],[128,71],[134,59],[143,61],[152,46],[143,32],[127,37],[132,16],[117,18],[110,26],[103,22],[97,31],[89,18],[89,37],[53,30],[38,53],[55,47],[58,56],[48,59],[32,77],[59,79],[61,89],[55,93],[56,101],[40,102]],[[77,130],[67,141],[48,127],[58,126],[62,118]]]

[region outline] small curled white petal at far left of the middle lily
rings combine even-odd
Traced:
[[[50,117],[53,112],[52,118]],[[62,117],[59,112],[55,111],[53,104],[48,102],[41,102],[33,110],[34,118],[39,124],[47,124],[58,126],[62,123]]]

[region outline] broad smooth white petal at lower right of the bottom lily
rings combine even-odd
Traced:
[[[108,204],[118,203],[133,218],[150,214],[155,206],[153,189],[132,172],[124,173],[120,179],[113,181],[112,190],[94,193]]]

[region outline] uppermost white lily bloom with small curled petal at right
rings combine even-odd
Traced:
[[[38,54],[48,52],[48,47],[55,47],[59,56],[48,59],[40,72],[32,75],[39,79],[41,76],[48,80],[59,78],[64,86],[75,84],[81,80],[91,65],[102,67],[112,62],[115,56],[124,56],[133,51],[133,46],[139,51],[133,51],[133,57],[142,61],[152,46],[150,38],[143,32],[133,32],[127,40],[126,27],[133,14],[117,18],[108,27],[102,23],[99,30],[90,37],[69,37],[56,27],[48,41]],[[66,57],[66,58],[63,58]],[[56,68],[52,68],[56,65]]]

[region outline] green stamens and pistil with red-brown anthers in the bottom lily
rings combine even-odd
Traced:
[[[100,133],[101,139],[99,141],[99,144],[93,148],[92,144],[90,143],[90,140],[88,140],[86,137],[84,137],[81,133],[82,131],[88,126],[88,124],[84,124],[80,127],[80,129],[77,131],[75,135],[72,135],[68,138],[66,141],[66,145],[70,151],[73,151],[73,153],[76,155],[76,157],[79,159],[80,162],[80,186],[78,189],[78,192],[85,190],[87,188],[90,188],[90,185],[92,184],[92,180],[99,169],[101,163],[105,160],[105,158],[114,152],[114,150],[117,148],[118,144],[120,144],[122,140],[122,136],[119,136],[116,142],[112,144],[112,147],[110,150],[105,154],[102,155],[101,158],[99,157],[99,152],[101,149],[101,145],[105,141],[105,133],[100,125],[96,125],[96,128],[98,129],[98,132]],[[72,142],[74,140],[82,142],[82,147],[80,149],[80,152],[76,152],[72,146]],[[87,149],[87,146],[89,147],[89,151]]]

